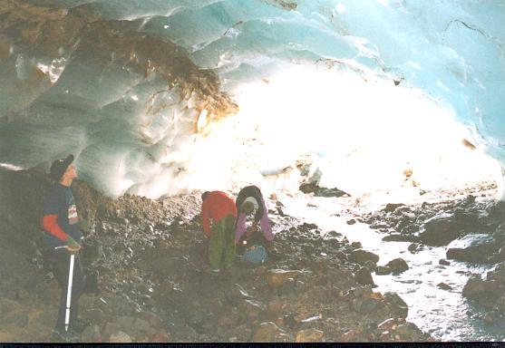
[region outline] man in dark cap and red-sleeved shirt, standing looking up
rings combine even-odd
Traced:
[[[55,183],[44,198],[44,251],[48,258],[54,277],[62,288],[58,319],[54,333],[59,337],[69,336],[69,333],[78,333],[83,329],[78,323],[78,300],[83,294],[85,276],[81,259],[77,254],[82,248],[83,235],[79,230],[79,217],[75,208],[72,189],[73,179],[77,172],[72,164],[73,155],[62,160],[55,160],[50,169],[50,175]],[[56,247],[62,247],[57,248]],[[68,333],[65,332],[65,310],[67,301],[68,278],[70,270],[70,256],[74,254],[73,285],[71,296],[70,323]]]

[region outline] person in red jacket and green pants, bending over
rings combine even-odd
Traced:
[[[201,195],[201,200],[203,233],[209,241],[209,264],[213,272],[219,272],[231,266],[235,258],[237,208],[233,199],[221,191],[206,191]]]

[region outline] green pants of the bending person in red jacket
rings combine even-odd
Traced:
[[[235,258],[235,217],[228,215],[212,224],[209,240],[209,264],[212,268],[228,268]]]

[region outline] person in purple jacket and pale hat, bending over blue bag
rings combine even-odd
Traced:
[[[270,227],[268,210],[261,190],[254,185],[241,189],[235,204],[238,210],[235,243],[241,248],[244,241],[248,245],[253,241],[268,249],[270,242],[274,239],[274,234],[272,227]],[[254,216],[253,223],[251,227],[247,228],[248,216],[251,215]],[[259,233],[258,227],[261,227],[262,234]]]

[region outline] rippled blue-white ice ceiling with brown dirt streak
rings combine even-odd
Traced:
[[[74,153],[81,176],[111,195],[157,197],[210,173],[225,178],[233,163],[224,154],[240,149],[233,141],[254,138],[237,137],[228,121],[251,109],[244,95],[257,87],[246,85],[294,88],[276,114],[319,86],[316,103],[334,112],[307,109],[303,122],[319,127],[306,131],[318,135],[299,143],[335,138],[326,121],[357,120],[341,105],[362,108],[365,96],[304,82],[301,66],[348,89],[349,76],[415,89],[505,163],[503,28],[502,0],[0,0],[0,163],[46,170]],[[268,95],[249,104],[265,113],[258,104]],[[398,112],[404,123],[414,113]],[[362,112],[363,130],[379,131],[384,113]],[[426,139],[437,132],[430,124]]]

